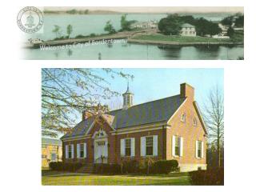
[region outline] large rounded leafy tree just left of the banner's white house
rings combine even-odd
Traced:
[[[170,14],[167,16],[167,18],[162,18],[158,22],[158,29],[162,32],[162,34],[177,35],[182,29],[181,19],[179,18],[178,14]]]

